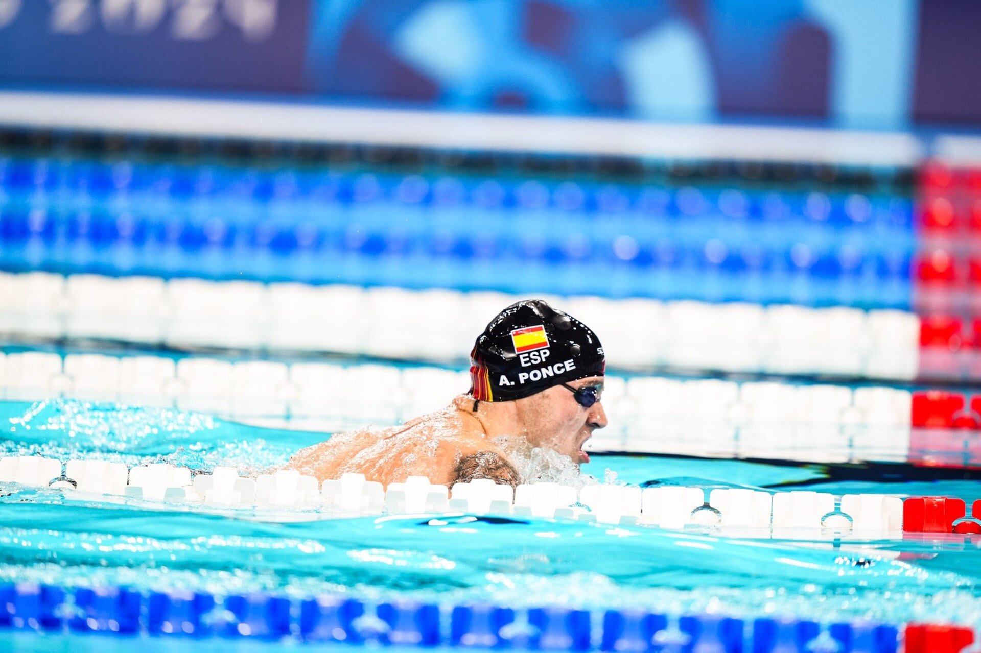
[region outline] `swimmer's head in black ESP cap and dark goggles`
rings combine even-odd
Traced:
[[[532,444],[589,460],[583,444],[606,426],[606,359],[589,326],[541,299],[518,302],[490,321],[470,358],[474,399],[514,402]]]

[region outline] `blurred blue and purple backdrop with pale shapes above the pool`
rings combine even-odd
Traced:
[[[981,123],[972,0],[0,0],[0,84]]]

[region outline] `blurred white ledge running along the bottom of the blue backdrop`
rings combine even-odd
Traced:
[[[544,154],[912,166],[910,134],[0,92],[0,124]]]

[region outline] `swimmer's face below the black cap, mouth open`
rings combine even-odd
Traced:
[[[603,377],[587,377],[569,383],[574,388],[592,385],[602,389]],[[596,428],[606,426],[602,400],[583,408],[573,393],[561,385],[515,401],[519,418],[533,446],[547,447],[576,463],[588,463],[583,445]]]

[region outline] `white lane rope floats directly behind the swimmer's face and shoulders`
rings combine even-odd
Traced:
[[[466,373],[434,367],[190,356],[106,356],[28,351],[0,354],[7,399],[68,396],[172,406],[282,427],[325,430],[388,425],[439,410],[466,390]],[[324,397],[334,397],[325,402]],[[384,397],[384,401],[378,399]],[[911,393],[886,387],[606,377],[607,411],[618,420],[595,451],[708,453],[815,462],[904,459]],[[793,419],[792,419],[793,418]],[[656,423],[656,432],[650,425]],[[788,428],[793,438],[787,438]],[[821,442],[820,447],[791,446]]]

